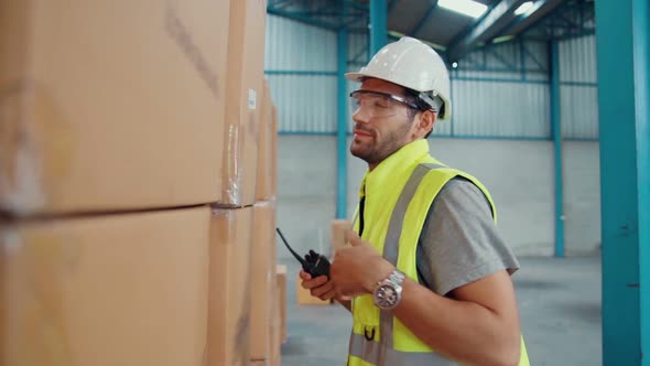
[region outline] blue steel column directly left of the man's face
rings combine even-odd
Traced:
[[[344,6],[345,7],[345,6]],[[337,34],[337,92],[338,92],[338,120],[337,120],[337,182],[336,182],[336,218],[347,216],[347,30],[340,28]]]

